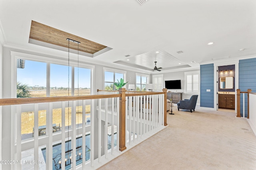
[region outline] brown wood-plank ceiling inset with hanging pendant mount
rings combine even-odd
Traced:
[[[80,42],[79,51],[90,53],[90,54],[94,54],[106,48],[105,45],[101,45],[99,43],[95,43],[88,39],[84,39],[76,35],[66,33],[64,31],[50,27],[48,25],[44,25],[36,21],[31,22],[29,38],[37,41],[42,41],[45,43],[50,43],[53,45],[58,45],[61,47],[66,47],[66,48],[68,48],[67,38],[69,38],[69,39]],[[77,50],[78,49],[77,43],[74,43],[73,41],[70,41],[70,42],[71,42],[69,45],[70,49]]]

